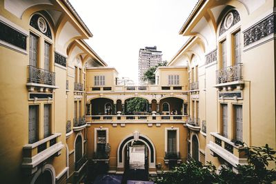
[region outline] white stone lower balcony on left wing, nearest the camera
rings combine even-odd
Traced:
[[[37,165],[46,161],[50,156],[59,156],[64,145],[60,133],[52,134],[45,139],[23,146],[22,167],[26,174],[37,171]]]

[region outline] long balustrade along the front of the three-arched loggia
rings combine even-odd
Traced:
[[[126,122],[137,122],[137,123],[185,123],[187,119],[186,115],[88,115],[86,121],[88,123],[100,123],[100,122],[112,122],[112,123],[126,123]]]

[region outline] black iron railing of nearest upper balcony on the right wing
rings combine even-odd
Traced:
[[[242,63],[217,70],[217,84],[240,81],[242,76]]]

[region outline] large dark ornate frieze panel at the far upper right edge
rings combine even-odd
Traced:
[[[263,39],[276,32],[274,27],[276,21],[276,14],[271,14],[266,19],[259,21],[259,23],[253,25],[251,28],[244,32],[244,46],[250,45],[255,41]]]

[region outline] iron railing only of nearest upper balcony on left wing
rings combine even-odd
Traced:
[[[55,72],[37,68],[33,65],[28,65],[29,76],[28,83],[43,83],[47,85],[55,85]]]

